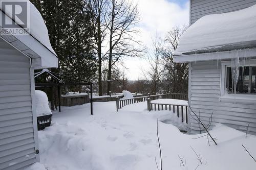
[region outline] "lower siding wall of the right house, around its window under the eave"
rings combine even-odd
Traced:
[[[213,112],[212,125],[222,123],[229,127],[256,134],[256,105],[220,102],[220,61],[193,62],[191,65],[190,106],[205,124]],[[190,127],[198,129],[198,123],[190,118]],[[191,131],[192,134],[199,131]]]

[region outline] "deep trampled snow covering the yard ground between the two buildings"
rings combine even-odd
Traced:
[[[146,111],[146,102],[125,106],[116,113],[115,102],[63,107],[53,113],[51,127],[38,132],[40,162],[27,170],[156,170],[160,166],[156,135],[159,138],[163,169],[255,169],[256,163],[242,144],[256,157],[256,137],[217,126],[211,131],[218,145],[201,135],[186,135],[164,120],[179,123],[170,111]],[[179,125],[180,129],[182,125]],[[183,127],[184,128],[184,127]],[[202,158],[202,164],[196,154]],[[181,164],[183,158],[185,166]],[[197,167],[198,166],[198,167]]]

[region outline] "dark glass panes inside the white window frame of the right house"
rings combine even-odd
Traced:
[[[236,68],[232,68],[230,66],[227,67],[226,92],[230,94],[234,93],[236,90],[237,93],[241,94],[256,94],[256,66],[239,67],[237,81],[236,75],[232,74],[232,72],[236,72],[234,69]]]

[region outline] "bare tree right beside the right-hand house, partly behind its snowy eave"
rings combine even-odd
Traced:
[[[187,26],[182,29],[174,27],[170,30],[166,37],[166,47],[162,53],[165,60],[165,90],[173,93],[181,93],[188,91],[188,64],[187,63],[174,63],[173,52],[176,51],[179,44],[181,35],[186,30]]]

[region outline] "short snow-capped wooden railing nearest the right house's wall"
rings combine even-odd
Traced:
[[[181,112],[181,121],[184,122],[184,117],[185,117],[186,124],[188,123],[187,108],[188,108],[187,105],[174,105],[172,103],[170,103],[170,104],[154,103],[154,101],[151,102],[150,99],[147,99],[147,110],[148,111],[173,110],[173,113],[176,112],[178,117],[180,116],[180,112]]]

